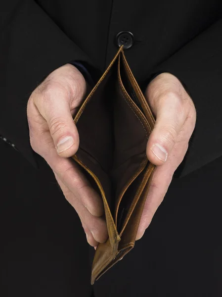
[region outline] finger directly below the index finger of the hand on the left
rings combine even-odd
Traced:
[[[103,217],[95,217],[89,213],[88,209],[79,202],[73,193],[65,186],[59,176],[55,175],[55,177],[65,198],[75,208],[82,223],[87,226],[94,240],[98,243],[104,243],[108,238],[105,219]]]

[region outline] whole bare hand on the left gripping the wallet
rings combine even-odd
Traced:
[[[73,121],[86,94],[81,72],[71,64],[54,70],[28,100],[30,143],[51,167],[69,203],[77,211],[89,245],[107,240],[107,228],[100,196],[90,187],[71,157],[79,147]]]

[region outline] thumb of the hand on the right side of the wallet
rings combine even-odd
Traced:
[[[147,143],[147,157],[155,165],[162,165],[178,140],[187,116],[185,104],[176,93],[149,99],[156,113],[156,123]]]

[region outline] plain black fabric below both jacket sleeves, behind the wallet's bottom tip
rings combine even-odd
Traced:
[[[174,179],[143,238],[91,287],[94,249],[50,168],[0,151],[0,296],[222,296],[222,157]]]

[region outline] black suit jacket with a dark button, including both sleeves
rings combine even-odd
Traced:
[[[117,51],[120,31],[141,86],[159,72],[191,94],[197,124],[181,176],[222,155],[221,0],[4,0],[0,8],[0,135],[36,166],[26,105],[54,69],[81,61],[97,80]]]

